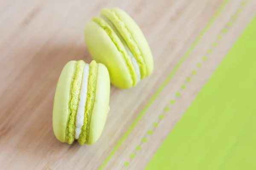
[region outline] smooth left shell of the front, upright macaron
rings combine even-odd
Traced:
[[[61,71],[56,86],[52,111],[52,127],[56,138],[65,142],[67,119],[69,116],[70,84],[75,71],[76,61],[68,62]]]

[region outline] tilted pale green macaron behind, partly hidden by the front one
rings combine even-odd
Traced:
[[[140,27],[120,8],[102,9],[87,23],[85,43],[91,57],[104,64],[111,84],[132,88],[152,74],[151,49]]]

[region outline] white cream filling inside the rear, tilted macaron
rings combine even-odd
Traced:
[[[128,55],[131,57],[131,61],[134,65],[134,68],[135,68],[135,71],[136,71],[136,74],[137,74],[137,83],[140,82],[140,79],[141,79],[141,75],[140,75],[140,67],[138,65],[138,62],[137,60],[135,59],[134,55],[131,53],[128,45],[126,44],[125,40],[123,39],[123,37],[121,36],[121,34],[119,33],[119,31],[116,30],[116,28],[113,26],[113,24],[111,23],[110,20],[108,20],[106,17],[104,16],[100,16],[102,19],[104,19],[110,26],[111,28],[113,28],[113,30],[116,32],[116,35],[119,37],[119,39],[122,41],[122,44],[125,46],[125,49],[128,53]]]

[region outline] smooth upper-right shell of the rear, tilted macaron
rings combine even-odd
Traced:
[[[151,49],[142,30],[137,23],[135,23],[135,21],[122,9],[110,8],[110,10],[117,14],[117,16],[125,23],[126,28],[128,28],[132,34],[134,40],[137,42],[137,45],[140,48],[141,53],[143,54],[144,61],[147,65],[147,76],[151,75],[154,69],[154,61]]]

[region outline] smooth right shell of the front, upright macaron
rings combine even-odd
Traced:
[[[102,134],[109,112],[110,76],[105,65],[99,63],[95,102],[87,144],[94,144]]]

